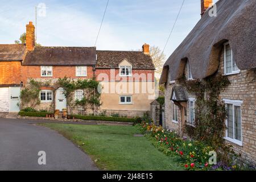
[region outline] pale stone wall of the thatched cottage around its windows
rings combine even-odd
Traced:
[[[184,71],[187,77],[187,67]],[[220,56],[220,65],[217,71],[218,74],[224,74],[224,52],[222,51]],[[242,101],[241,115],[242,115],[242,146],[229,142],[233,145],[236,152],[241,154],[241,158],[246,163],[256,164],[256,69],[242,70],[236,75],[227,76],[230,81],[230,85],[222,90],[220,94],[221,100],[239,100]],[[179,110],[178,123],[172,122],[172,106],[170,98],[173,86],[179,85],[179,80],[175,81],[175,84],[168,82],[165,86],[165,117],[166,126],[172,130],[176,130],[178,133],[185,135],[183,126],[181,126],[181,113]],[[195,98],[188,93],[188,98]],[[195,106],[196,107],[196,106]],[[187,106],[187,121],[189,119],[189,105]]]

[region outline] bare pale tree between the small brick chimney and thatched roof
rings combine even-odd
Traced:
[[[157,46],[150,47],[150,56],[155,65],[155,72],[161,74],[166,55]]]

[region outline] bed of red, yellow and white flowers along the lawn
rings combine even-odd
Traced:
[[[222,165],[210,165],[209,155],[213,148],[203,142],[180,138],[175,131],[165,130],[163,127],[142,122],[139,129],[146,134],[156,148],[166,155],[176,156],[184,169],[187,170],[216,170],[235,169],[223,168]]]

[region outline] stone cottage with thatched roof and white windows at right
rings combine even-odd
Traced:
[[[164,64],[166,127],[187,135],[194,126],[196,96],[184,82],[223,76],[230,84],[219,100],[227,110],[225,141],[249,164],[256,164],[256,2],[201,1],[201,19]],[[216,115],[213,117],[217,117]]]

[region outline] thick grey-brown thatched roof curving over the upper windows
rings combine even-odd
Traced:
[[[256,1],[219,0],[217,16],[209,16],[209,9],[187,38],[164,64],[160,84],[182,77],[189,60],[193,78],[205,78],[218,69],[224,42],[230,43],[238,68],[256,68]]]

